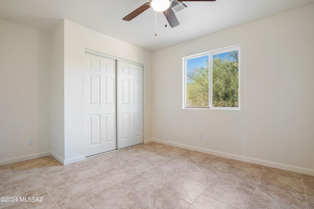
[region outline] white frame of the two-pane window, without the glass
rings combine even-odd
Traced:
[[[235,51],[238,50],[238,81],[239,81],[239,86],[238,86],[238,107],[212,107],[212,56],[216,54],[221,54],[225,52],[230,52],[230,51]],[[209,106],[206,107],[187,107],[186,106],[186,60],[197,58],[197,57],[202,57],[208,55],[209,56]],[[199,54],[194,54],[190,56],[185,56],[183,57],[183,109],[186,110],[240,110],[240,45],[235,45],[235,46],[229,46],[229,47],[224,47],[220,49],[215,49],[207,52],[202,52]]]

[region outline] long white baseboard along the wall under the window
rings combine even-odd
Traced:
[[[296,173],[302,173],[302,174],[314,176],[314,170],[304,168],[304,167],[298,167],[298,166],[293,166],[293,165],[288,165],[288,164],[264,161],[264,160],[260,160],[260,159],[249,158],[249,157],[245,157],[245,156],[239,156],[239,155],[234,155],[234,154],[229,154],[229,153],[224,153],[224,152],[218,152],[218,151],[214,151],[214,150],[184,145],[184,144],[180,144],[180,143],[174,143],[174,142],[160,140],[160,139],[150,139],[150,140],[157,142],[157,143],[167,144],[167,145],[171,145],[171,146],[176,146],[176,147],[189,149],[189,150],[202,152],[202,153],[207,153],[207,154],[211,154],[211,155],[216,155],[216,156],[220,156],[220,157],[230,158],[230,159],[243,161],[243,162],[247,162],[247,163],[254,163],[254,164],[259,164],[259,165],[264,165],[264,166],[268,166],[268,167],[273,167],[273,168],[278,168],[278,169],[283,169],[283,170],[288,170],[288,171],[292,171],[292,172],[296,172]]]

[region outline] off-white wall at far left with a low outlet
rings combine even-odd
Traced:
[[[2,20],[0,31],[1,165],[50,155],[51,144],[50,34]]]

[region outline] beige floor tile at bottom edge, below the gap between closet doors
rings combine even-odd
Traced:
[[[86,201],[95,209],[124,209],[141,198],[143,197],[137,192],[117,185],[87,198]]]

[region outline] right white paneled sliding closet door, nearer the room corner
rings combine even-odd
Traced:
[[[118,149],[144,142],[143,67],[118,61]]]

